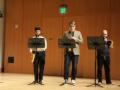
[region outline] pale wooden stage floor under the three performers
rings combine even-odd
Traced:
[[[94,83],[94,79],[77,78],[75,86],[69,84],[60,86],[63,83],[63,78],[55,76],[45,76],[45,85],[28,85],[32,81],[32,74],[0,73],[0,90],[120,90],[120,81],[118,80],[112,80],[113,85],[106,85],[103,81],[103,88],[98,86],[87,87]]]

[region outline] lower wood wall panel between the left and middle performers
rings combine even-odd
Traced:
[[[48,42],[45,73],[47,75],[61,75],[63,51],[58,48],[58,38],[62,35],[61,18],[44,18],[43,30],[46,31]]]

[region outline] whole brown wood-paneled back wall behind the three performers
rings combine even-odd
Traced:
[[[63,75],[64,54],[57,40],[68,29],[68,22],[75,20],[84,37],[78,63],[78,77],[94,77],[94,51],[87,48],[87,36],[100,35],[102,28],[109,28],[115,46],[111,50],[111,76],[120,79],[120,0],[65,0],[69,11],[58,13],[61,0],[6,0],[5,72],[33,73],[28,38],[34,34],[34,26],[40,25],[47,38],[46,75]],[[18,25],[18,28],[16,28]],[[15,63],[9,64],[8,57]]]

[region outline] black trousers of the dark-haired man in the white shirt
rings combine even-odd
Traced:
[[[37,52],[35,53],[35,59],[33,62],[34,68],[34,81],[42,81],[44,74],[44,66],[45,66],[45,52]]]

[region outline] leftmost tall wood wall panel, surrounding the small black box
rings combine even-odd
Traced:
[[[5,72],[21,71],[22,4],[22,0],[8,0],[6,2]],[[8,63],[9,56],[14,56],[14,64]]]

